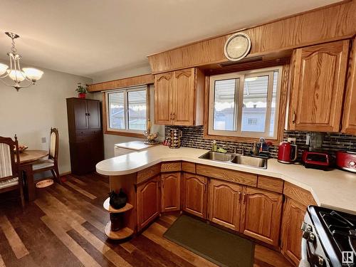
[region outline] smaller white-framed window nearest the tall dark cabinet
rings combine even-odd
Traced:
[[[107,130],[142,133],[146,130],[149,110],[147,86],[105,93]]]

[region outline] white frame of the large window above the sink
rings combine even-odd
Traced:
[[[269,128],[271,126],[271,103],[273,99],[273,73],[278,70],[277,91],[276,91],[276,108],[275,108],[275,122],[273,129],[273,137],[269,136]],[[244,101],[244,82],[245,78],[256,75],[268,75],[268,91],[267,91],[267,106],[266,106],[266,124],[264,132],[241,132],[242,119],[242,105]],[[278,125],[279,111],[281,105],[281,81],[283,75],[283,66],[273,66],[269,68],[258,68],[253,70],[244,70],[234,73],[224,73],[219,75],[211,75],[209,77],[209,102],[208,102],[208,127],[207,135],[215,135],[222,137],[241,137],[241,138],[259,138],[265,137],[268,140],[278,140]],[[235,121],[233,131],[228,130],[214,130],[214,102],[215,102],[215,82],[216,80],[236,79],[235,86]],[[239,82],[237,82],[239,79]],[[238,83],[238,85],[237,85]]]

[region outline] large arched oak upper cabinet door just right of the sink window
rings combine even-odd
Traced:
[[[290,130],[338,132],[349,41],[298,48],[290,68]]]

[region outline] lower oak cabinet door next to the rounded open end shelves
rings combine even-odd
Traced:
[[[137,186],[138,231],[159,216],[159,175]]]

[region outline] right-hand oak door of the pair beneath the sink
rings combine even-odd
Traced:
[[[241,206],[241,233],[278,246],[282,194],[245,187]]]

